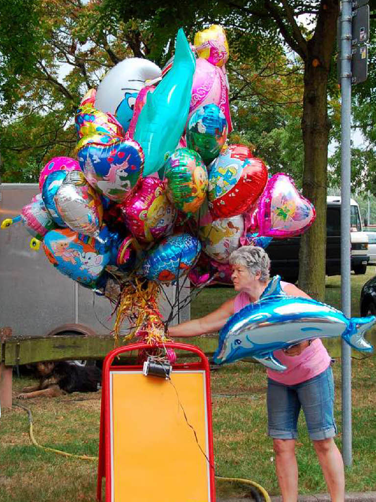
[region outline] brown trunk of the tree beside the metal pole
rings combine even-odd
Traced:
[[[330,124],[327,82],[335,43],[338,3],[321,2],[314,37],[307,44],[304,68],[302,132],[303,194],[316,208],[316,221],[301,239],[299,287],[313,298],[325,298],[326,187]]]

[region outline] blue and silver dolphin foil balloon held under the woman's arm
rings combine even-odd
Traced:
[[[341,336],[351,347],[371,352],[364,333],[376,322],[375,316],[348,319],[339,310],[308,298],[286,296],[280,277],[275,277],[258,302],[232,315],[219,333],[216,364],[252,356],[270,369],[286,366],[273,355],[311,338]]]

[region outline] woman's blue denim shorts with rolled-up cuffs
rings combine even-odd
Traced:
[[[335,436],[334,382],[332,368],[297,385],[268,379],[268,434],[276,439],[296,439],[300,408],[313,440]]]

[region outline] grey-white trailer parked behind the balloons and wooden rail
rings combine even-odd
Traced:
[[[38,184],[0,184],[0,219],[14,218],[39,193]],[[0,328],[13,335],[43,336],[63,332],[110,334],[114,319],[107,298],[94,294],[58,272],[43,249],[30,248],[31,235],[22,223],[0,230]],[[175,287],[165,288],[173,303]],[[189,292],[184,288],[183,298]],[[165,318],[171,312],[161,299]],[[180,321],[190,317],[189,305]],[[176,322],[176,318],[173,323]]]

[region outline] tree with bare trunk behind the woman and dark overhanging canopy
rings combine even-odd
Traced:
[[[231,0],[214,5],[193,0],[181,0],[177,4],[151,0],[147,6],[103,0],[102,9],[117,13],[123,21],[133,19],[148,24],[156,36],[148,46],[153,54],[163,53],[178,26],[190,33],[192,28],[211,22],[230,28],[234,43],[242,45],[247,56],[252,55],[255,61],[257,49],[271,47],[271,41],[278,35],[301,58],[304,63],[303,193],[315,204],[317,220],[302,238],[299,284],[313,297],[323,299],[330,129],[327,87],[339,14],[338,0]],[[299,23],[303,15],[312,17],[310,29]]]

